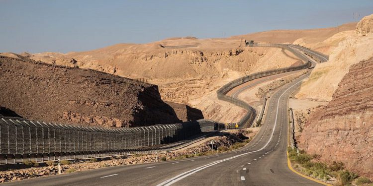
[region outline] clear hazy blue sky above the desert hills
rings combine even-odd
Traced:
[[[0,52],[333,27],[372,13],[373,0],[0,0]]]

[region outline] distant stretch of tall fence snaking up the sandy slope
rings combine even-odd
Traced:
[[[253,74],[246,75],[244,77],[235,79],[235,80],[223,85],[222,87],[220,87],[216,91],[218,99],[223,100],[223,101],[227,101],[229,103],[232,103],[234,105],[237,105],[237,106],[247,110],[247,113],[240,119],[239,122],[237,122],[238,128],[245,128],[247,126],[250,127],[255,120],[256,111],[253,107],[251,107],[246,102],[243,102],[239,99],[236,99],[236,98],[233,98],[233,97],[230,97],[230,96],[227,96],[226,93],[228,93],[234,87],[236,87],[238,85],[241,85],[243,83],[246,83],[248,81],[258,79],[258,78],[261,78],[261,77],[265,77],[265,76],[279,74],[279,73],[285,73],[285,72],[290,72],[290,71],[306,69],[306,68],[311,67],[312,64],[313,64],[312,62],[308,61],[308,59],[306,57],[299,54],[299,52],[295,51],[294,49],[288,47],[286,44],[257,44],[257,43],[249,44],[249,43],[246,43],[246,46],[283,48],[283,49],[286,49],[286,50],[292,52],[295,56],[297,56],[298,58],[300,58],[301,60],[303,60],[306,63],[300,64],[300,65],[297,65],[297,66],[290,66],[290,67],[284,67],[284,68],[278,68],[278,69],[272,69],[272,70],[266,70],[266,71],[262,71],[262,72],[253,73]]]

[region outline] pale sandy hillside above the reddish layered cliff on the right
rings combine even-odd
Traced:
[[[296,98],[330,101],[350,65],[373,56],[373,14],[364,17],[353,32],[341,32],[317,46],[326,45],[336,45],[330,48],[329,61],[316,65]]]

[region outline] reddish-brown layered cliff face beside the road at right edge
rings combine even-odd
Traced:
[[[330,103],[311,114],[299,146],[373,178],[373,58],[350,67]]]

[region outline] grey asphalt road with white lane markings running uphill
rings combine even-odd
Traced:
[[[107,167],[4,186],[316,186],[287,167],[287,102],[303,74],[269,100],[264,124],[249,145],[233,152],[178,161]]]

